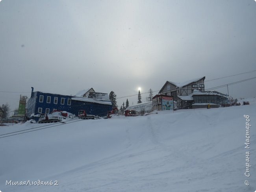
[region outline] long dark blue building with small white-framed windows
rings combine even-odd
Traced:
[[[78,115],[79,110],[85,110],[87,114],[106,116],[112,110],[112,103],[107,100],[82,98],[78,96],[60,95],[40,91],[31,92],[31,97],[26,103],[26,116],[47,113],[53,111],[67,111]]]

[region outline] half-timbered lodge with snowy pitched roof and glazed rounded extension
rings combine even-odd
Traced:
[[[166,81],[159,94],[173,96],[178,109],[205,107],[208,103],[214,107],[227,104],[228,95],[204,90],[204,79],[205,76],[184,83]]]

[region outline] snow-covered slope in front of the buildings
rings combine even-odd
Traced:
[[[0,190],[254,192],[256,99],[247,101],[250,105],[0,127]],[[250,116],[249,149],[244,115]],[[24,129],[32,132],[4,135]],[[6,185],[10,180],[58,185]]]

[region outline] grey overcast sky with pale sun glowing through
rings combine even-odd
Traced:
[[[256,2],[2,0],[0,66],[0,104],[11,109],[31,87],[67,95],[93,87],[118,98],[166,81],[250,72],[206,82],[208,89],[256,76]],[[254,97],[255,85],[230,85],[229,94]]]

